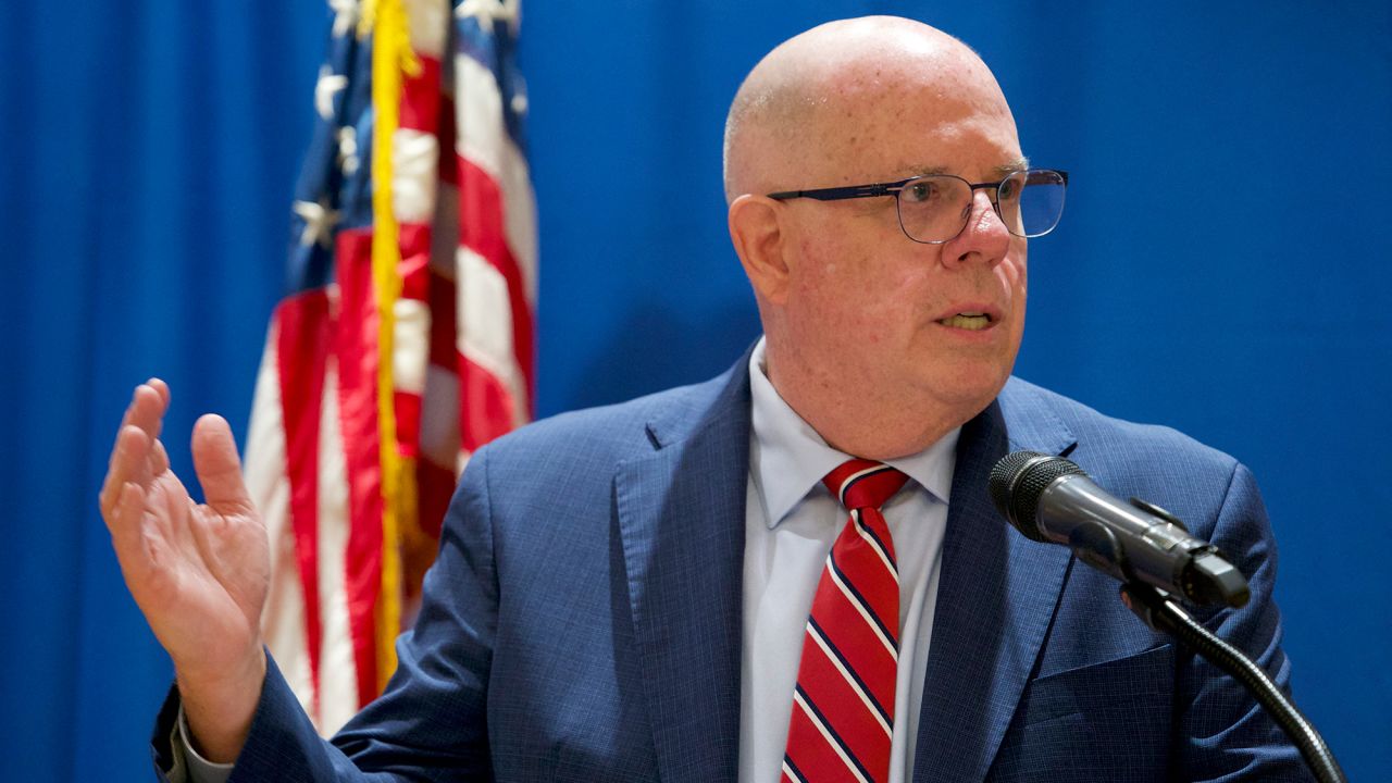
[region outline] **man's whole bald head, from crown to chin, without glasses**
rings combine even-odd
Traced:
[[[764,372],[828,444],[912,454],[995,398],[1025,327],[1026,241],[984,188],[935,244],[908,235],[899,196],[767,194],[927,174],[990,183],[1023,166],[995,77],[920,22],[821,25],[741,85],[725,128],[729,237],[759,305]]]

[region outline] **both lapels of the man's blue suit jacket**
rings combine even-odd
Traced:
[[[653,451],[618,465],[643,694],[668,782],[735,780],[749,476],[748,354],[707,405],[649,422]],[[986,493],[1009,450],[1066,451],[1069,429],[1015,380],[958,442],[915,780],[984,779],[1058,605],[1070,555],[1009,529]]]

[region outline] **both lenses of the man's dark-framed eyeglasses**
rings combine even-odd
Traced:
[[[988,188],[995,189],[995,188]],[[1063,215],[1063,177],[1058,171],[1015,171],[1001,181],[995,210],[1016,237],[1040,237]],[[917,177],[899,191],[899,223],[920,242],[945,242],[972,217],[972,185],[951,174]]]

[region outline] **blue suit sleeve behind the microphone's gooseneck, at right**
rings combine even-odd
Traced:
[[[1281,648],[1272,599],[1276,549],[1251,472],[1236,464],[1210,541],[1247,575],[1247,606],[1197,616],[1210,631],[1256,660],[1286,694],[1290,662]],[[1196,653],[1179,653],[1175,731],[1180,780],[1313,780],[1297,750],[1247,690]]]

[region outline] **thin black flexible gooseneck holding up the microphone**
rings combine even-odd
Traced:
[[[1178,600],[1154,587],[1132,580],[1122,585],[1121,592],[1122,603],[1143,623],[1175,637],[1185,646],[1242,683],[1257,698],[1257,702],[1275,718],[1290,741],[1300,748],[1300,755],[1304,757],[1306,765],[1310,766],[1320,783],[1346,783],[1347,779],[1339,769],[1339,762],[1335,761],[1320,733],[1250,658],[1200,626]]]

